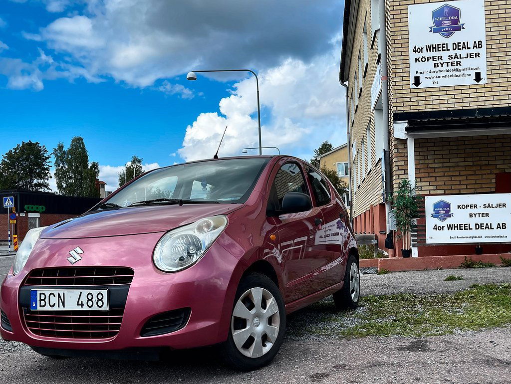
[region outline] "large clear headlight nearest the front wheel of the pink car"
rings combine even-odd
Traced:
[[[190,267],[204,256],[226,226],[225,216],[213,216],[167,232],[154,249],[154,265],[165,272]]]

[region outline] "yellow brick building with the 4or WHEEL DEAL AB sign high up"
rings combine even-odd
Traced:
[[[475,1],[478,10],[466,11]],[[453,44],[469,40],[464,36],[476,28],[482,32],[470,46]],[[419,34],[424,37],[417,39]],[[473,57],[484,61],[481,67],[462,60],[436,63],[458,57],[455,48],[464,49],[464,55],[472,44],[479,49]],[[423,56],[415,57],[414,50]],[[429,63],[426,52],[433,51]],[[433,70],[414,71],[422,63]],[[468,77],[461,78],[464,70]],[[509,71],[508,0],[346,0],[339,79],[347,91],[356,232],[377,234],[385,249],[385,238],[395,229],[389,196],[404,178],[416,181],[423,195],[511,192]],[[428,83],[432,77],[439,80]],[[423,215],[418,227],[424,222]],[[414,255],[474,253],[474,244],[426,246],[419,234],[414,236]],[[393,243],[401,248],[395,238]],[[510,250],[509,244],[484,246],[484,253]]]

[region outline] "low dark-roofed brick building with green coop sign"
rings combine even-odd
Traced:
[[[12,196],[16,210],[16,224],[13,234],[19,241],[29,229],[45,227],[60,221],[74,218],[92,208],[101,199],[56,195],[50,192],[31,192],[26,190],[0,190],[0,199]],[[8,213],[11,209],[0,206],[0,241],[7,241]],[[12,225],[10,226],[12,227]]]

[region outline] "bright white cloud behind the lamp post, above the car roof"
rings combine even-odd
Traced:
[[[337,44],[311,63],[288,59],[260,74],[261,103],[269,123],[262,127],[264,146],[278,147],[307,160],[322,141],[334,146],[345,142],[344,89],[339,85]],[[182,148],[187,161],[211,158],[222,133],[227,131],[220,156],[239,155],[244,147],[258,147],[255,81],[234,85],[232,94],[219,102],[219,113],[201,113],[188,126]],[[274,154],[272,149],[263,153]],[[257,151],[252,151],[257,153]]]

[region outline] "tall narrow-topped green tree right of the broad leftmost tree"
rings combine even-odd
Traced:
[[[59,194],[66,196],[99,197],[96,179],[99,176],[99,164],[92,162],[83,138],[75,136],[67,148],[59,142],[53,150],[55,157],[55,182]]]

